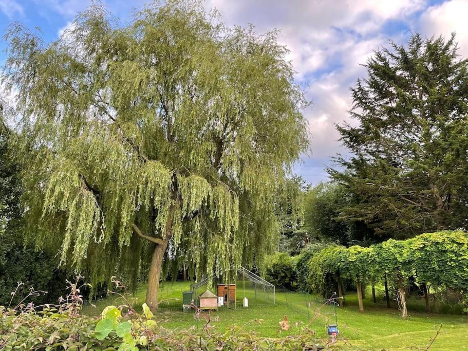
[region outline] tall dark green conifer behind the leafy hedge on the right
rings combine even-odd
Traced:
[[[377,235],[407,237],[466,228],[468,216],[468,62],[455,36],[390,43],[351,89],[351,117],[338,126],[352,156],[329,170],[355,196],[342,211]]]

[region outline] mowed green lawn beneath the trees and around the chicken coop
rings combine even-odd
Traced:
[[[164,327],[201,329],[204,326],[203,319],[197,321],[193,313],[181,312],[182,292],[189,291],[190,284],[190,282],[165,282],[162,285],[161,299],[164,301],[155,316]],[[137,310],[141,310],[145,289],[146,286],[142,284],[133,294]],[[314,295],[277,291],[276,305],[274,305],[271,293],[257,290],[255,299],[254,290],[247,288],[245,294],[249,299],[247,308],[241,305],[244,289],[238,282],[236,310],[220,308],[218,311],[210,312],[211,325],[218,330],[226,330],[237,325],[263,337],[281,337],[297,334],[313,320],[310,328],[315,330],[318,337],[326,337],[327,324],[334,323],[334,308],[321,307],[322,300]],[[430,338],[436,335],[436,329],[443,324],[440,335],[431,349],[468,350],[468,318],[461,315],[428,314],[410,309],[410,317],[402,320],[397,309],[385,308],[383,301],[373,304],[369,298],[370,293],[367,293],[367,299],[364,300],[365,312],[359,312],[355,294],[347,294],[345,306],[336,309],[340,337],[345,339],[341,343],[347,345],[346,349],[425,349]],[[416,309],[420,309],[419,302],[411,303]],[[95,303],[96,308],[84,306],[84,312],[88,315],[99,315],[102,309],[110,304],[119,305],[122,304],[122,300],[110,296]],[[291,325],[291,329],[287,332],[279,329],[279,322],[285,315]]]

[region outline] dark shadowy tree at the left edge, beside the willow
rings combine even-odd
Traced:
[[[34,303],[57,301],[65,292],[64,272],[57,269],[57,260],[48,252],[35,250],[25,243],[20,167],[9,149],[11,131],[8,130],[0,108],[0,305],[8,306],[11,292],[18,282],[13,303],[22,299],[31,286],[48,291],[47,295],[32,298]]]

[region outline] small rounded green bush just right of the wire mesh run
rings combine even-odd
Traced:
[[[289,290],[297,289],[296,260],[286,252],[278,252],[271,255],[265,274],[267,281],[273,285],[283,286]]]

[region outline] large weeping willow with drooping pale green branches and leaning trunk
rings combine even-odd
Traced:
[[[178,255],[199,275],[263,265],[308,145],[307,101],[276,32],[169,1],[126,26],[93,5],[53,43],[17,24],[6,40],[38,247],[95,283],[148,267],[153,308]]]

